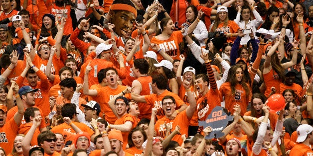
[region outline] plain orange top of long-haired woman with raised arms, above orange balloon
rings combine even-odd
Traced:
[[[266,86],[266,90],[264,95],[266,97],[271,93],[271,87],[274,86],[276,88],[276,92],[280,92],[279,84],[282,82],[281,79],[278,79],[277,73],[272,69],[269,73],[263,74],[263,81]]]

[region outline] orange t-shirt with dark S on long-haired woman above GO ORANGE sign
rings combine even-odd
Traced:
[[[247,93],[241,84],[236,84],[235,96],[231,93],[230,82],[223,83],[219,91],[221,93],[221,100],[224,97],[225,108],[229,110],[232,114],[235,112],[234,106],[238,103],[241,107],[240,115],[244,115],[247,112],[247,105],[252,93]],[[248,85],[248,84],[247,84]],[[248,85],[249,86],[249,85]]]

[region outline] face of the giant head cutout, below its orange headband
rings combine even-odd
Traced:
[[[126,10],[119,10],[116,12],[111,10],[110,17],[111,23],[115,25],[113,28],[114,32],[122,37],[127,35],[129,30],[133,27],[133,23],[136,19],[134,13]]]

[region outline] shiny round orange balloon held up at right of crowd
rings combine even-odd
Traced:
[[[267,105],[275,112],[284,109],[286,106],[285,98],[282,94],[273,94],[267,101]]]

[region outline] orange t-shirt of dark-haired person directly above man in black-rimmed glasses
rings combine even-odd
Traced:
[[[179,107],[184,104],[184,101],[182,101],[177,94],[174,94],[168,90],[164,90],[163,93],[157,95],[157,94],[150,94],[145,96],[145,100],[148,104],[152,105],[153,107],[157,107],[157,119],[161,119],[165,116],[165,113],[162,108],[162,99],[164,96],[170,95],[174,97],[176,109],[179,109]],[[187,126],[188,127],[188,126]]]

